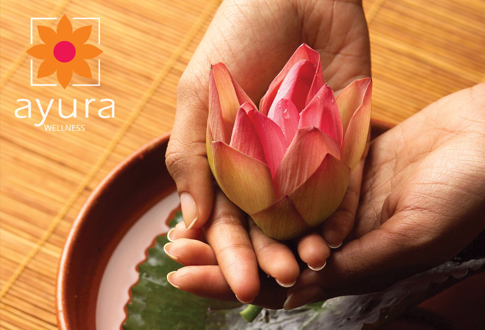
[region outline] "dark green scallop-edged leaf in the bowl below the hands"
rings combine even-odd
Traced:
[[[171,224],[181,220],[175,215]],[[139,265],[139,282],[132,287],[124,330],[370,330],[378,329],[457,281],[485,269],[485,232],[460,255],[438,267],[406,278],[377,293],[337,297],[292,311],[263,310],[248,323],[241,304],[204,299],[175,289],[167,273],[181,266],[167,257],[160,236]]]

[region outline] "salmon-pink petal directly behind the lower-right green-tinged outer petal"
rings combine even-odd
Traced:
[[[340,158],[337,141],[316,127],[298,129],[273,178],[277,198],[290,194],[305,182],[327,153]]]

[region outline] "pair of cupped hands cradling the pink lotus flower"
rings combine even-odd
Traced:
[[[432,268],[485,227],[484,84],[435,102],[370,144],[339,210],[294,242],[299,258],[314,269],[326,264],[322,270],[300,273],[286,245],[247,221],[214,186],[208,167],[208,67],[223,61],[257,104],[303,42],[319,51],[325,81],[337,93],[370,76],[361,4],[332,0],[224,1],[182,75],[167,150],[178,192],[197,206],[191,212],[182,205],[186,223],[171,232],[167,247],[187,266],[169,278],[182,290],[291,309],[379,290]],[[328,244],[346,237],[331,253]]]

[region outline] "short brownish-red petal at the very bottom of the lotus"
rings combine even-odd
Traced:
[[[267,209],[250,215],[263,232],[277,240],[291,240],[310,229],[288,196],[283,196]]]

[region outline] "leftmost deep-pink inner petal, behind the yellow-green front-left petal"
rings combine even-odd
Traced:
[[[244,104],[248,105],[248,103]],[[244,111],[243,106],[238,110],[236,122],[234,123],[234,129],[231,136],[231,143],[229,145],[234,149],[239,150],[246,155],[266,164],[263,146],[259,141],[258,133],[254,129],[254,126]]]

